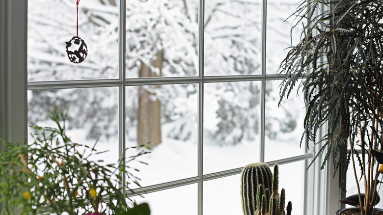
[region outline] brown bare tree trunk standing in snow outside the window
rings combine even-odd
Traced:
[[[159,68],[160,74],[153,72],[145,63],[141,62],[140,78],[161,77],[164,62],[163,51],[158,52],[157,58],[152,62],[153,67]],[[150,90],[147,90],[147,87]],[[161,139],[161,101],[156,98],[156,88],[160,85],[140,86],[137,111],[137,144],[145,144],[153,148],[162,142]]]

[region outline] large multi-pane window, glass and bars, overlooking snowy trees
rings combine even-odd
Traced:
[[[315,211],[318,168],[306,173],[312,154],[298,148],[304,106],[298,98],[275,108],[282,77],[274,71],[290,45],[282,22],[294,3],[82,0],[79,36],[89,52],[75,65],[64,45],[76,32],[75,0],[29,0],[21,34],[28,81],[19,80],[27,83],[28,123],[44,125],[49,108],[70,106],[73,140],[93,144],[100,136],[98,150],[109,149],[103,156],[111,162],[151,142],[149,164],[137,167],[148,195],[136,199],[154,215],[240,214],[241,169],[258,161],[281,164],[280,187],[295,214]],[[16,17],[9,11],[3,16]]]

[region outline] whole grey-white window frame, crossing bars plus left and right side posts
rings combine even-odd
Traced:
[[[119,74],[116,80],[86,80],[86,81],[49,81],[49,82],[27,82],[27,0],[0,0],[0,135],[8,141],[23,142],[27,136],[27,90],[29,89],[60,89],[79,88],[95,86],[118,86],[119,96],[119,131],[125,131],[125,86],[164,83],[198,83],[199,84],[199,150],[198,150],[198,176],[175,182],[168,182],[160,185],[146,187],[147,192],[159,191],[168,188],[176,188],[188,184],[198,183],[198,214],[202,215],[202,193],[203,182],[225,176],[239,174],[241,168],[226,170],[213,174],[203,174],[203,138],[202,138],[202,117],[203,117],[203,84],[207,82],[224,81],[261,81],[261,144],[260,161],[264,161],[264,134],[265,134],[265,85],[267,80],[275,80],[275,75],[266,75],[266,5],[263,0],[262,13],[262,74],[249,76],[203,76],[203,40],[199,40],[199,76],[182,78],[147,78],[147,79],[125,79],[125,23],[126,23],[126,1],[120,0],[119,23]],[[204,5],[204,0],[199,0],[199,5]],[[199,17],[204,20],[203,6],[199,7]],[[203,38],[204,28],[199,22],[199,38]],[[119,133],[119,153],[125,149],[125,135]],[[318,150],[316,150],[318,151]],[[311,150],[304,155],[272,161],[284,164],[294,161],[305,161],[305,166],[310,163],[314,153]],[[334,214],[340,208],[338,199],[340,189],[338,180],[332,179],[332,165],[327,164],[325,170],[320,171],[320,161],[310,167],[305,174],[304,193],[304,214],[323,215]],[[338,174],[339,175],[339,174]],[[337,176],[338,177],[338,176]],[[127,193],[128,195],[131,193]],[[136,193],[137,194],[137,193]],[[0,206],[1,209],[1,206]]]

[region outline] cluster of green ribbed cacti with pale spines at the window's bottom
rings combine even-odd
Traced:
[[[244,167],[241,176],[244,215],[291,215],[291,202],[287,204],[287,212],[284,210],[285,189],[282,188],[280,194],[278,193],[278,175],[278,164],[274,165],[274,175],[266,163],[254,163]]]

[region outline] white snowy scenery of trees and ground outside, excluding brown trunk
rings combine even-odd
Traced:
[[[268,1],[267,74],[275,74],[286,53],[284,48],[290,46],[286,29],[291,22],[282,22],[294,8],[292,1]],[[65,53],[65,42],[76,32],[75,14],[75,0],[28,1],[28,81],[118,78],[118,7],[99,0],[80,2],[79,36],[89,49],[80,65],[70,63]],[[151,61],[161,50],[165,59],[163,77],[198,75],[197,14],[195,0],[127,1],[127,78],[138,77],[141,62],[159,73]],[[259,0],[205,2],[205,76],[261,73],[261,17]],[[283,108],[277,108],[279,83],[266,83],[270,91],[265,111],[266,161],[303,154],[299,142],[304,105],[299,99],[290,98],[284,101]],[[156,94],[153,99],[162,102],[163,141],[141,158],[148,165],[137,162],[141,185],[198,176],[198,84],[143,87]],[[126,87],[127,146],[137,144],[138,89]],[[261,81],[204,84],[203,174],[259,161],[260,89]],[[42,126],[46,123],[43,112],[51,106],[69,105],[68,134],[72,140],[93,146],[95,136],[101,135],[97,149],[109,151],[93,159],[112,163],[118,159],[118,99],[117,87],[33,90],[28,91],[28,117]],[[302,163],[280,166],[280,188],[286,188],[286,199],[293,202],[295,215],[303,214]],[[203,183],[204,215],[242,214],[239,177]],[[198,185],[150,193],[137,201],[148,201],[154,215],[195,215]]]

